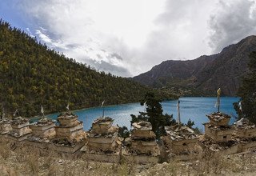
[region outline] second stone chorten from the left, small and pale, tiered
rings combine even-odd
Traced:
[[[28,138],[31,134],[31,129],[29,127],[30,121],[28,118],[17,117],[13,118],[11,121],[12,130],[8,137],[14,141],[21,142]]]

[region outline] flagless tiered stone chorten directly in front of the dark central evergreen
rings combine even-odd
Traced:
[[[158,156],[160,150],[151,123],[145,121],[134,122],[132,126],[129,152],[138,155]]]

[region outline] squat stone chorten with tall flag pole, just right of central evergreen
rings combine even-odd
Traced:
[[[166,153],[169,157],[175,156],[184,160],[187,155],[196,156],[199,154],[198,150],[198,135],[194,133],[194,130],[188,126],[175,125],[165,126],[166,136],[162,137],[162,141],[166,146]],[[183,156],[182,155],[186,155]],[[177,159],[178,159],[177,158]]]

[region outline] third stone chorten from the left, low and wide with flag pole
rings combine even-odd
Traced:
[[[38,122],[30,124],[32,135],[28,138],[28,143],[39,148],[47,148],[50,139],[55,137],[55,123],[50,118],[42,117]]]

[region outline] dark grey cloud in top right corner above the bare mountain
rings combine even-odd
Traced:
[[[209,46],[214,52],[256,34],[255,2],[250,0],[220,1],[210,16]]]

